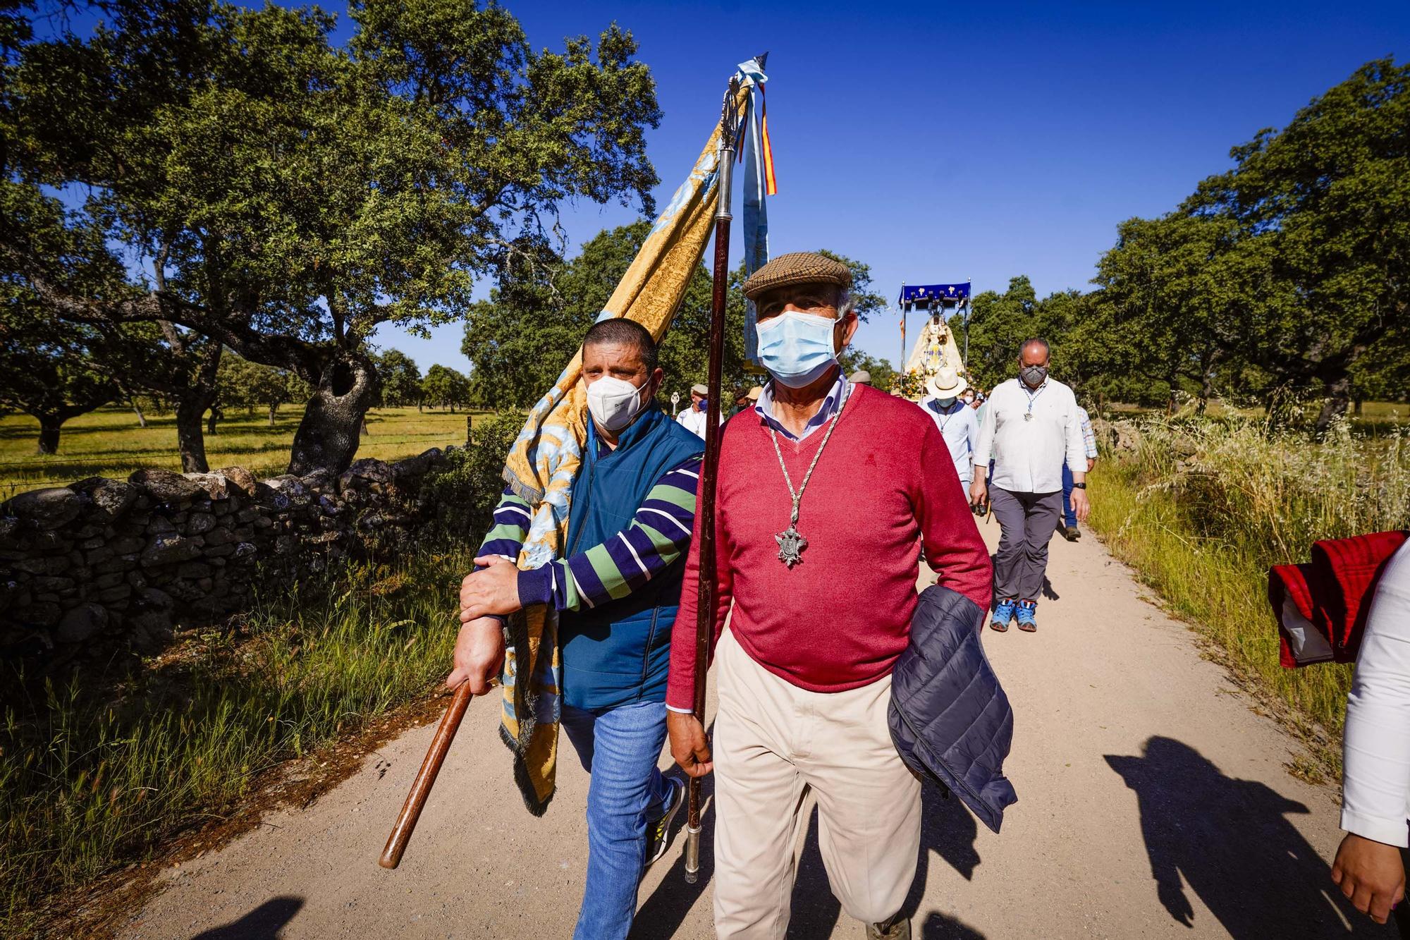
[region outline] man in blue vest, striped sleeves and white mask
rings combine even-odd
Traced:
[[[626,937],[642,872],[666,852],[685,792],[657,769],[666,741],[671,625],[695,519],[705,442],[654,397],[663,373],[640,323],[609,319],[582,340],[588,439],[572,484],[567,556],[520,572],[529,504],[505,490],[461,586],[447,686],[489,690],[505,656],[501,615],[558,611],[563,730],[592,775],[588,876],[574,937]]]

